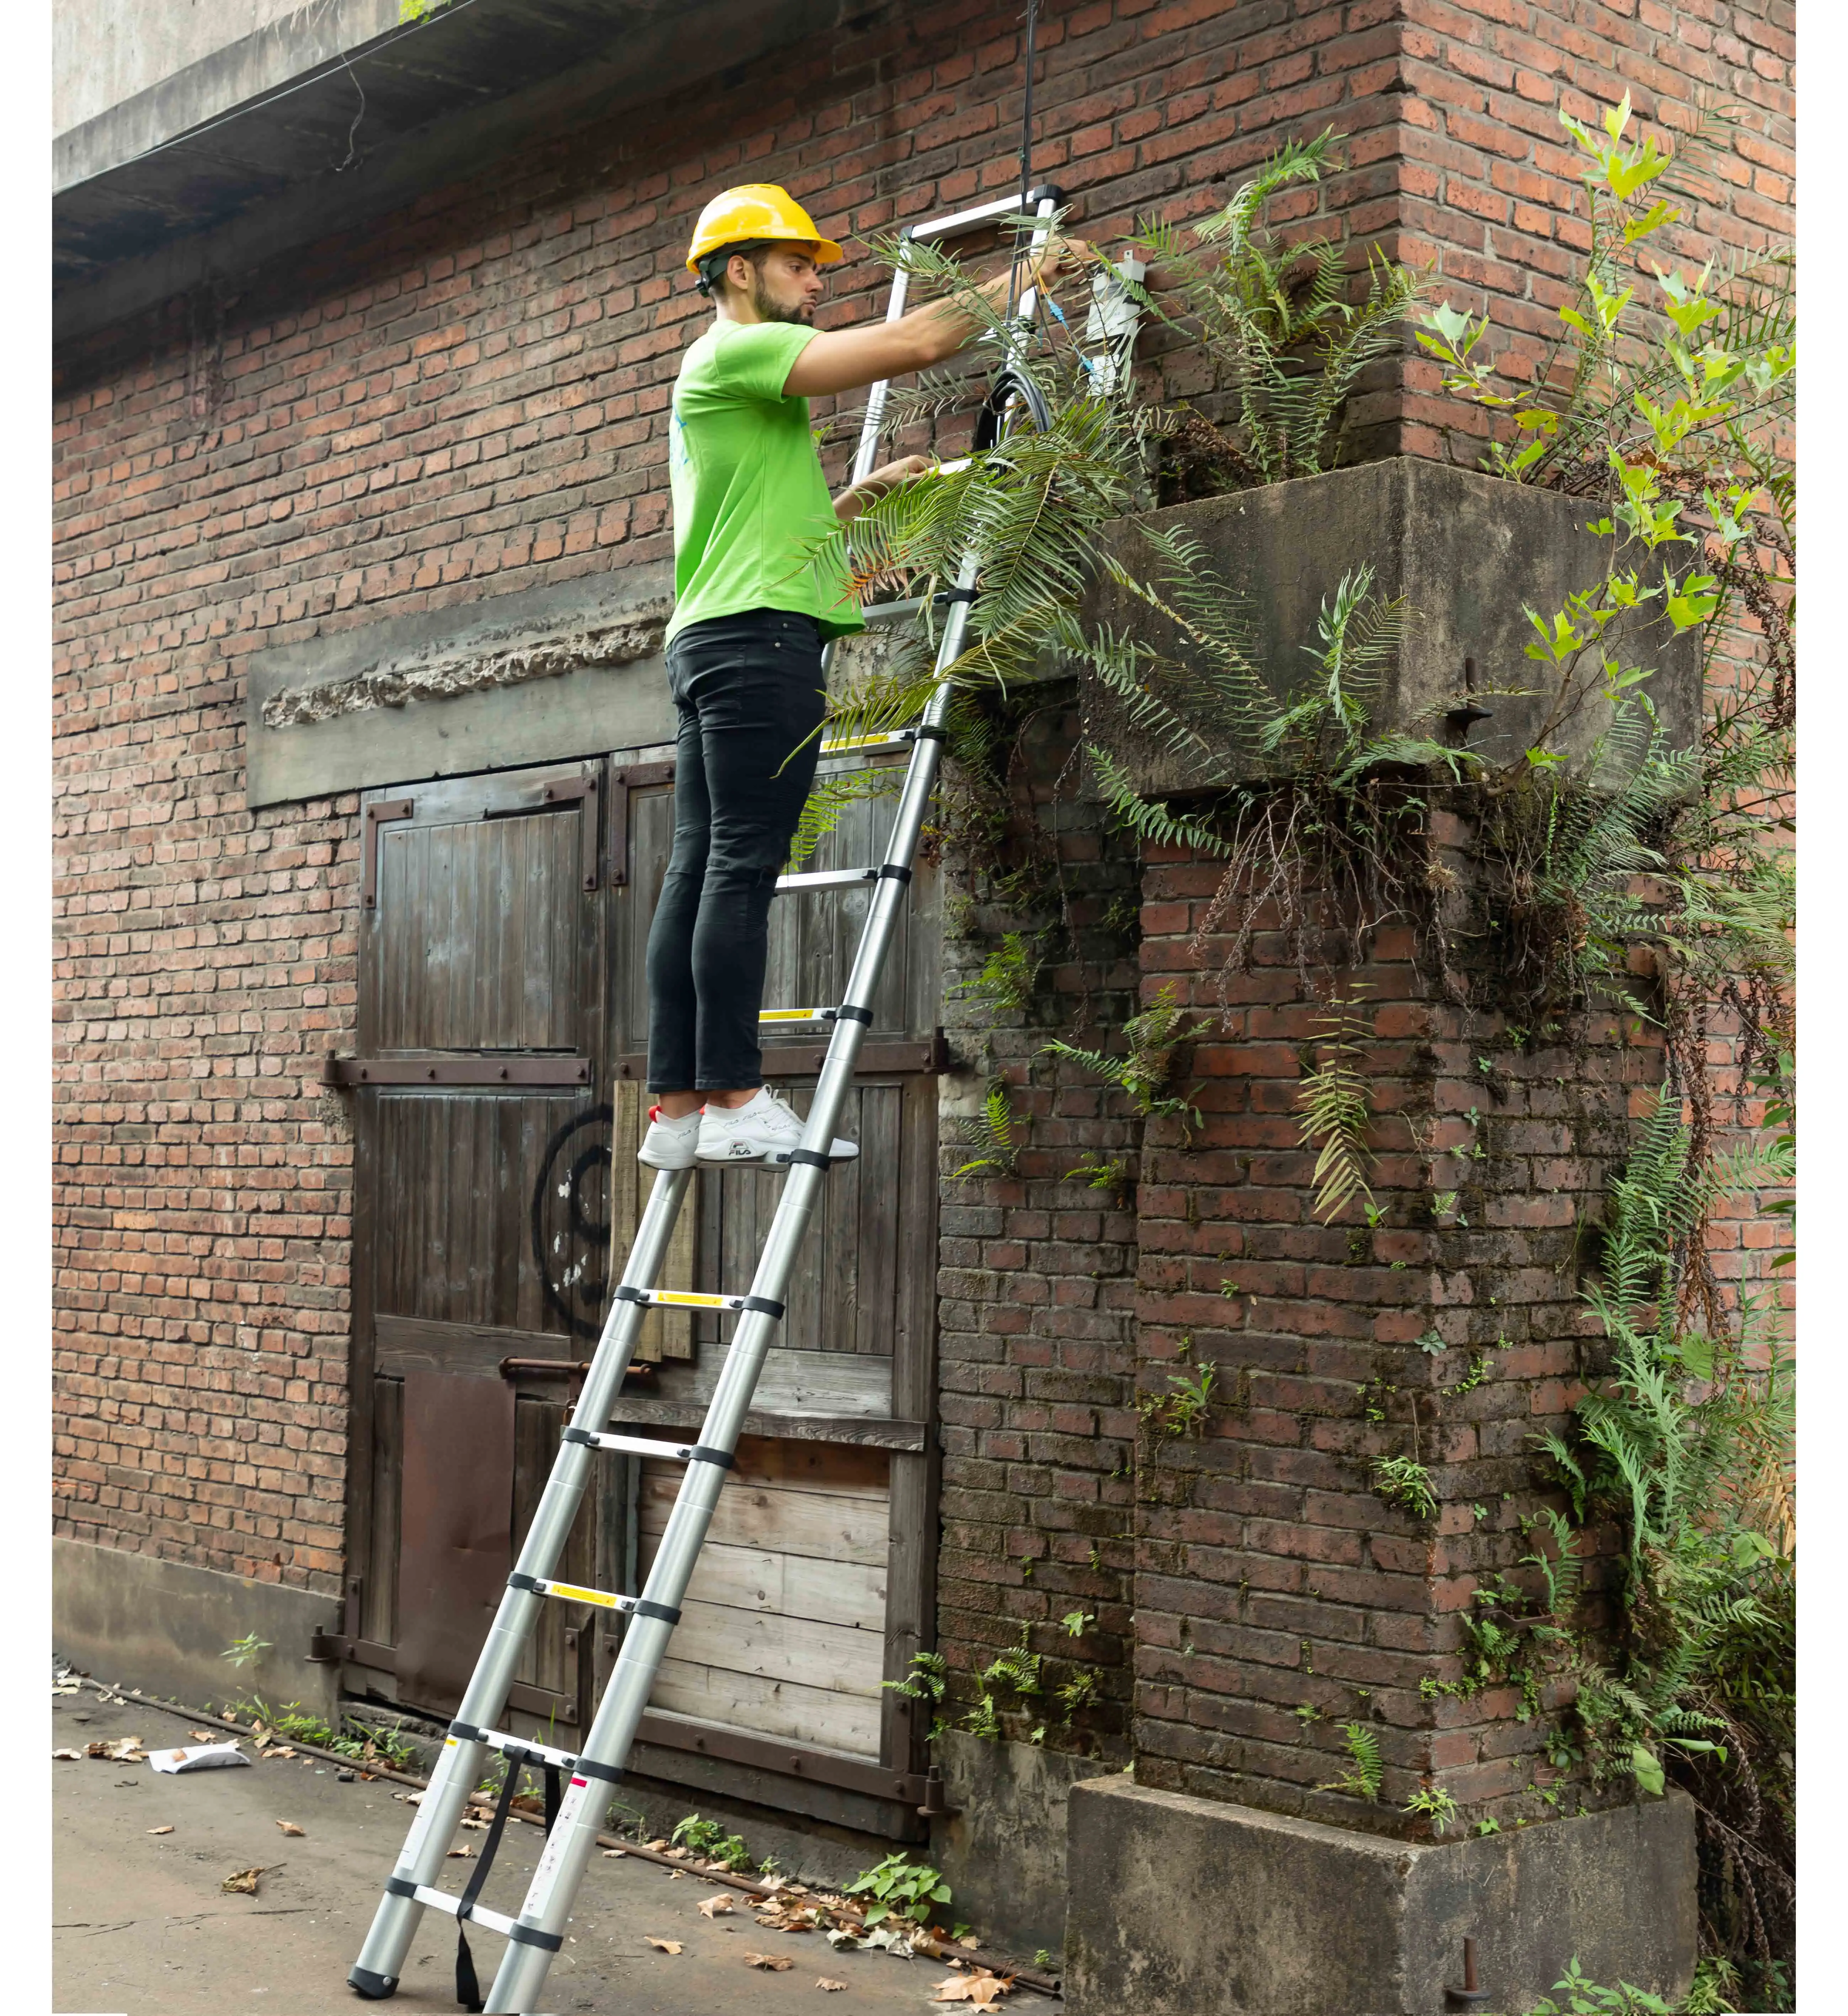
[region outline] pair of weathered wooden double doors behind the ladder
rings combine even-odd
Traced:
[[[891,798],[818,867],[879,859]],[[365,804],[355,1089],[351,1677],[453,1710],[550,1470],[647,1195],[645,948],[665,752]],[[937,881],[919,867],[828,1177],[635,1768],[917,1835],[923,1724],[885,1687],[927,1643],[935,1556]],[[770,1006],[836,1000],[859,889],[778,899]],[[824,1030],[766,1046],[798,1109]],[[701,1171],[667,1286],[748,1284],[780,1177]],[[615,1419],[693,1427],[730,1322],[651,1314]],[[599,1458],[560,1574],[639,1591],[679,1466]],[[582,1724],[609,1611],[548,1605],[512,1706]]]

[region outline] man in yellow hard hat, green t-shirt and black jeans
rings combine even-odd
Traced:
[[[1028,258],[1042,286],[1078,240]],[[713,323],[673,387],[667,685],[679,714],[673,855],[649,931],[651,1169],[788,1163],[802,1121],[764,1087],[758,1010],[770,899],[814,780],[822,649],[865,629],[832,524],[929,470],[907,456],[828,498],[808,401],[953,357],[983,325],[955,300],[816,331],[840,246],[776,183],[715,196],[687,270]],[[983,286],[1004,306],[1010,274]],[[832,1155],[859,1155],[834,1141]]]

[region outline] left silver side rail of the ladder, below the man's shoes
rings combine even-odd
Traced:
[[[663,1169],[655,1177],[655,1187],[649,1193],[647,1210],[643,1212],[629,1262],[623,1270],[627,1286],[651,1288],[655,1284],[689,1187],[689,1169]],[[572,1413],[574,1427],[599,1429],[609,1419],[615,1397],[623,1387],[623,1377],[629,1371],[629,1359],[635,1351],[643,1316],[647,1316],[647,1304],[643,1302],[625,1302],[621,1298],[611,1302],[603,1337],[597,1343],[590,1371],[584,1375],[584,1389]],[[550,1577],[576,1520],[584,1484],[590,1476],[590,1462],[592,1452],[584,1443],[560,1443],[552,1474],[526,1530],[516,1572],[536,1581]],[[455,1712],[455,1722],[478,1730],[492,1730],[500,1720],[508,1689],[544,1601],[544,1597],[528,1589],[514,1589],[512,1585],[502,1593],[500,1609],[476,1659],[476,1669],[461,1697],[461,1708]],[[399,1849],[393,1869],[393,1877],[399,1883],[423,1885],[427,1889],[437,1887],[437,1877],[443,1873],[443,1859],[449,1853],[449,1843],[455,1839],[455,1826],[468,1806],[468,1796],[476,1786],[486,1754],[484,1744],[459,1736],[449,1736],[443,1742],[435,1768],[429,1774],[429,1788],[417,1806],[417,1816],[411,1820],[405,1845]],[[361,1988],[365,1994],[389,1992],[385,1982],[395,1982],[403,1970],[405,1954],[411,1947],[411,1937],[423,1909],[421,1901],[405,1897],[399,1891],[387,1891],[379,1899],[371,1931],[349,1976],[355,1988]]]

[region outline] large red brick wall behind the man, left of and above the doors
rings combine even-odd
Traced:
[[[1568,36],[1564,12],[1574,46],[1546,65],[1528,50]],[[1711,14],[1733,40],[1699,54]],[[1602,93],[1612,73],[1578,46],[1588,36],[1622,52],[1648,111],[1691,87],[1699,54],[1769,131],[1786,14],[1781,0],[1050,6],[1036,165],[1110,238],[1141,214],[1213,208],[1276,139],[1334,123],[1350,165],[1298,210],[1401,250],[1431,242],[1447,280],[1524,327],[1570,224],[1503,226],[1463,200],[1495,192],[1507,161],[1558,171],[1552,105],[1520,79]],[[62,359],[60,1530],[316,1589],[339,1566],[349,1147],[316,1058],[353,1038],[357,835],[351,800],[246,810],[248,655],[663,556],[661,415],[703,317],[679,270],[699,204],[780,177],[863,240],[1004,190],[1016,16],[987,0],[875,10]],[[1731,210],[1755,222],[1788,163],[1749,135],[1729,159],[1745,177]],[[869,260],[850,266],[834,312],[865,312],[875,280]],[[1181,353],[1159,377],[1205,389]],[[1399,442],[1397,399],[1372,395],[1376,446],[1443,452],[1423,395]],[[1034,1244],[1052,1234],[1014,1236],[1028,1260],[1008,1274],[1066,1266]],[[1042,1431],[1006,1405],[996,1427]],[[1042,1474],[1062,1468],[1082,1470],[1060,1456]]]

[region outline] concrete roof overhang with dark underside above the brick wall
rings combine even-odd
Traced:
[[[262,42],[286,42],[286,24],[262,30],[191,67],[208,75],[167,79],[58,139],[54,345],[208,282],[240,292],[306,244],[472,181],[534,133],[607,129],[659,103],[663,77],[687,89],[818,30],[806,0],[470,0],[349,46],[369,18],[347,0],[280,52]],[[294,83],[171,131],[294,58]]]

